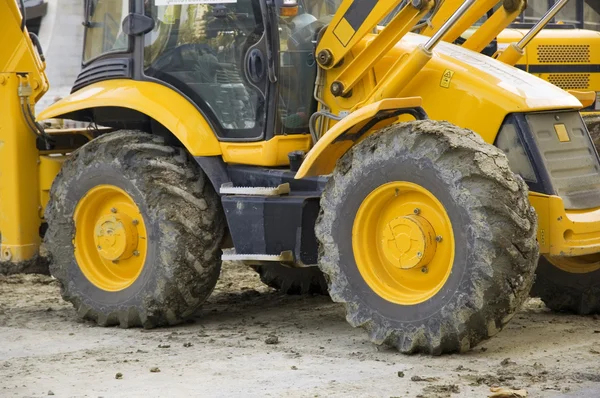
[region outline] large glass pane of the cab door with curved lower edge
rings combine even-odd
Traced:
[[[160,5],[167,3],[146,3],[146,15],[155,20],[144,42],[146,76],[187,95],[216,122],[224,138],[261,137],[267,79],[258,73],[251,82],[248,70],[261,69],[266,61],[253,58],[249,67],[247,57],[263,36],[259,1]]]

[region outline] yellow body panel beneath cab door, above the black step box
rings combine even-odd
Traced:
[[[288,154],[293,151],[308,152],[311,138],[307,134],[277,135],[268,141],[221,142],[223,160],[253,166],[286,166]]]

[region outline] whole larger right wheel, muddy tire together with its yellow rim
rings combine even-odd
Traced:
[[[430,120],[382,129],[338,161],[321,199],[331,297],[375,344],[469,350],[528,297],[538,246],[527,195],[505,155],[468,130]]]

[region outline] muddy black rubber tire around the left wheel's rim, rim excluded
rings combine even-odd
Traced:
[[[117,292],[99,289],[74,257],[73,212],[98,184],[125,190],[148,230],[144,268]],[[101,326],[174,325],[193,315],[215,287],[224,233],[219,198],[180,148],[139,131],[121,130],[84,145],[64,163],[46,209],[50,271],[78,315]]]

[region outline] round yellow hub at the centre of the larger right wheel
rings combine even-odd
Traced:
[[[435,231],[423,217],[396,217],[382,231],[382,251],[392,266],[400,269],[423,267],[435,255]]]

